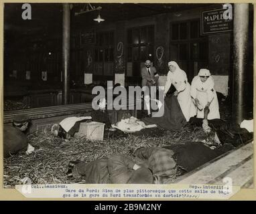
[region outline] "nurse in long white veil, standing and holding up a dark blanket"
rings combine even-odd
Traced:
[[[177,96],[182,113],[188,122],[190,117],[196,114],[196,109],[190,96],[190,84],[188,83],[186,72],[181,70],[178,64],[174,61],[168,62],[168,67],[170,71],[167,75],[166,86],[164,87],[164,95],[166,96],[166,93],[173,84],[176,88],[174,96]]]

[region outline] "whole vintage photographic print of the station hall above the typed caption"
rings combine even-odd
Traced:
[[[253,188],[253,4],[3,13],[3,187]]]

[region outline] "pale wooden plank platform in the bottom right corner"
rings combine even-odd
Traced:
[[[179,177],[178,184],[225,185],[222,179],[229,177],[233,186],[253,188],[253,143],[235,148],[194,171]]]

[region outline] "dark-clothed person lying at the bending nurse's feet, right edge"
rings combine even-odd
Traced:
[[[243,124],[246,123],[244,121],[239,126],[235,122],[227,122],[221,119],[204,120],[202,118],[190,118],[188,126],[207,127],[204,129],[214,131],[220,144],[232,144],[237,147],[253,141],[253,120],[249,122],[251,124],[248,128],[250,132],[246,128],[242,128]]]

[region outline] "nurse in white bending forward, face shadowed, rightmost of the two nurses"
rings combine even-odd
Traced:
[[[214,80],[210,71],[200,69],[198,76],[195,76],[191,83],[191,96],[197,109],[197,118],[204,118],[204,108],[208,106],[210,112],[207,119],[219,119],[218,98],[214,90]]]

